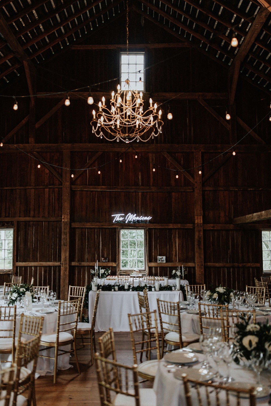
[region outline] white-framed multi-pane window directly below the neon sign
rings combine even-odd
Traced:
[[[120,270],[145,270],[145,232],[143,229],[120,230]]]

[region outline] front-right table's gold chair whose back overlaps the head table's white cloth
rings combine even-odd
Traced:
[[[138,365],[137,374],[141,376],[141,378],[153,381],[160,360],[156,310],[152,312],[128,314],[128,319],[134,364],[138,364],[137,354],[142,354],[145,351],[148,354],[148,361],[144,361]],[[148,334],[147,338],[142,342],[141,337],[143,331],[148,331]],[[141,333],[141,337],[138,339],[139,333]],[[142,344],[143,346],[146,345],[146,350],[142,348]],[[157,360],[150,361],[151,351],[154,350],[156,351]]]

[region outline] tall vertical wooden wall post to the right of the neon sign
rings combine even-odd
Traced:
[[[202,227],[202,175],[199,175],[201,167],[201,152],[194,152],[195,166],[195,268],[196,283],[204,283],[204,257],[203,257],[203,227]],[[197,168],[198,167],[198,168]]]

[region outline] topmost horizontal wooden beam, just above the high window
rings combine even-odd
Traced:
[[[190,48],[193,46],[192,44],[189,44],[187,42],[167,42],[167,43],[152,43],[152,44],[128,44],[128,49],[137,49],[137,48],[147,48],[147,49],[153,49],[153,48]],[[127,44],[98,44],[98,45],[72,45],[69,47],[70,50],[115,50],[116,48],[125,48],[127,49]]]

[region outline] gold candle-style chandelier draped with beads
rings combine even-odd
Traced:
[[[150,99],[150,107],[144,112],[143,94],[130,89],[129,82],[129,79],[125,80],[127,89],[120,90],[118,85],[117,93],[112,92],[110,110],[105,105],[104,97],[98,104],[97,114],[93,110],[91,125],[92,133],[96,137],[104,137],[108,141],[121,140],[125,143],[134,140],[146,142],[162,132],[162,111],[157,112],[157,104],[152,106]]]

